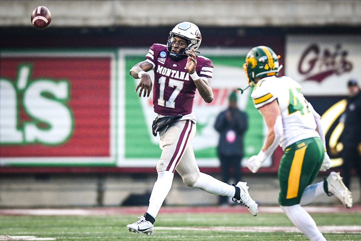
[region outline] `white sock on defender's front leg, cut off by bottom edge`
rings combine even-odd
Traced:
[[[315,221],[301,205],[281,206],[281,208],[292,223],[311,241],[326,241],[326,238],[318,230]]]

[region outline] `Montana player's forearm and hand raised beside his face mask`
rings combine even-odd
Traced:
[[[213,100],[213,91],[210,87],[208,81],[204,81],[201,79],[198,74],[196,73],[196,66],[197,66],[197,59],[194,53],[194,49],[188,51],[188,59],[186,68],[188,73],[190,74],[191,78],[193,79],[194,84],[197,87],[197,90],[200,96],[204,99],[206,103],[210,103]]]

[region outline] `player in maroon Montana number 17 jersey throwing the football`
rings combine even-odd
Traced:
[[[127,225],[129,231],[153,233],[153,224],[173,181],[174,170],[181,175],[184,184],[208,193],[233,197],[242,202],[253,216],[257,215],[257,203],[248,194],[246,182],[228,185],[205,173],[196,163],[191,140],[196,132],[196,117],[192,111],[196,90],[210,103],[213,91],[208,78],[213,76],[213,63],[206,57],[195,55],[201,44],[201,33],[191,22],[177,24],[169,33],[168,43],[153,44],[145,61],[134,65],[130,75],[140,78],[135,92],[139,97],[152,89],[152,81],[146,72],[154,70],[153,106],[158,114],[153,121],[153,135],[159,132],[162,149],[157,164],[158,178],[149,199],[149,207],[139,221]]]

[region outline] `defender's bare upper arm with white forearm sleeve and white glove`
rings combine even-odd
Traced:
[[[283,134],[282,117],[277,99],[258,108],[258,110],[266,122],[268,133],[261,151],[248,160],[247,167],[253,173],[257,172],[267,157],[276,150]]]

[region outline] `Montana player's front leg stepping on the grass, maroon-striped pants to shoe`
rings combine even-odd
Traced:
[[[158,178],[152,189],[147,212],[140,216],[139,221],[127,225],[132,232],[153,233],[155,218],[173,182],[175,166],[184,154],[188,141],[194,137],[195,124],[191,120],[177,121],[159,134],[162,154],[157,164]]]

